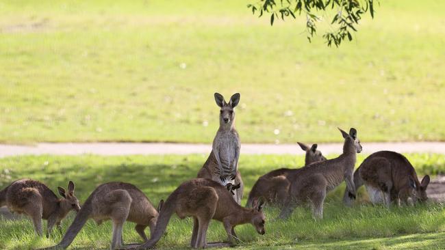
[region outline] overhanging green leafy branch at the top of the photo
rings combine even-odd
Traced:
[[[260,0],[257,3],[247,5],[252,10],[252,14],[270,14],[270,25],[273,25],[276,18],[292,17],[296,14],[306,15],[307,39],[311,39],[316,34],[316,22],[321,20],[317,16],[318,12],[325,12],[331,9],[337,10],[337,13],[331,20],[331,31],[327,31],[323,38],[327,45],[339,46],[346,38],[351,41],[353,36],[351,31],[357,31],[361,15],[369,12],[374,18],[374,3],[378,0]],[[335,26],[333,26],[335,25]]]

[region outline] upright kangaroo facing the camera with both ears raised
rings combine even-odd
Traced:
[[[240,158],[240,137],[235,130],[235,111],[233,109],[240,102],[240,94],[231,96],[229,103],[224,97],[215,93],[216,104],[221,108],[219,115],[219,129],[212,144],[212,152],[198,173],[198,178],[206,178],[219,182],[223,186],[227,183],[240,184],[233,199],[241,204],[244,183],[238,171]]]

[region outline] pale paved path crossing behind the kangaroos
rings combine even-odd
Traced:
[[[392,150],[401,153],[431,152],[445,154],[445,142],[407,142],[407,143],[361,143],[363,152],[370,154],[379,150]],[[342,143],[321,143],[318,149],[323,154],[340,154]],[[36,145],[0,144],[0,157],[25,154],[208,154],[211,143],[37,143]],[[294,144],[246,144],[241,145],[241,154],[303,154]]]

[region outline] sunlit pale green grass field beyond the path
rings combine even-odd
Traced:
[[[381,1],[340,48],[251,2],[0,0],[0,141],[209,142],[214,92],[243,142],[445,140],[444,1]]]

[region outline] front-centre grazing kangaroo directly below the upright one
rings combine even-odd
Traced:
[[[254,208],[243,208],[237,204],[225,186],[208,179],[194,179],[183,182],[168,196],[160,211],[155,232],[151,238],[137,249],[148,249],[156,245],[164,234],[168,221],[173,213],[179,218],[193,217],[194,225],[190,246],[193,248],[210,246],[228,246],[225,243],[209,243],[207,245],[207,227],[211,219],[221,221],[227,232],[229,241],[236,238],[235,227],[251,223],[258,234],[264,234],[265,217],[262,212],[263,202],[255,201]]]

